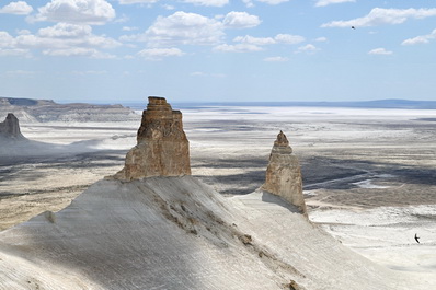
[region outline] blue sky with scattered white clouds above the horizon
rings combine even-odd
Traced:
[[[2,96],[436,100],[435,83],[435,1],[0,1]]]

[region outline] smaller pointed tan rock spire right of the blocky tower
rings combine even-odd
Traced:
[[[300,164],[297,156],[292,154],[292,148],[283,131],[277,135],[277,140],[274,142],[266,169],[265,184],[261,189],[283,197],[296,206],[301,213],[307,214]]]

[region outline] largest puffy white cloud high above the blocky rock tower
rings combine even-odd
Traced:
[[[145,34],[130,36],[129,40],[144,40],[151,47],[215,45],[225,35],[222,28],[217,20],[177,11],[168,18],[159,16]]]

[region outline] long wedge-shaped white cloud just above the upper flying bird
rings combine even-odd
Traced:
[[[332,21],[324,23],[321,27],[364,27],[381,24],[401,24],[409,19],[424,19],[436,16],[436,8],[433,9],[383,9],[375,8],[369,14],[348,21]]]

